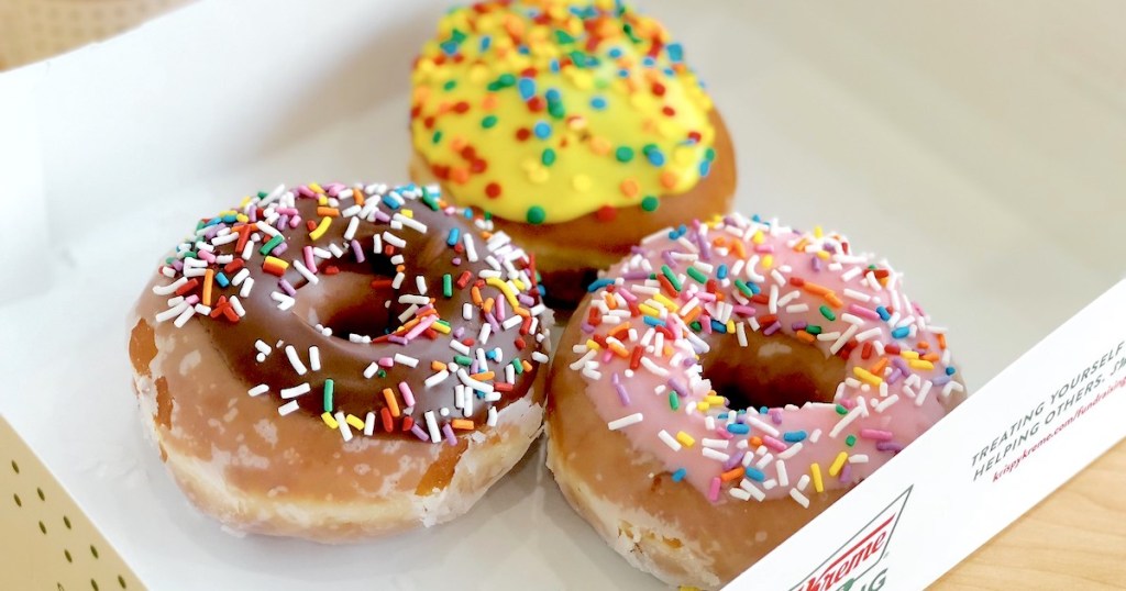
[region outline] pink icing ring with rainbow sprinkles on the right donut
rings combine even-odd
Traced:
[[[665,272],[674,277],[668,285],[652,278]],[[930,325],[900,281],[885,261],[851,252],[837,234],[799,233],[738,214],[665,230],[596,283],[578,312],[584,339],[571,367],[584,376],[608,428],[656,456],[674,477],[682,472],[713,501],[789,495],[805,504],[817,492],[815,474],[823,490],[851,486],[964,397],[945,330]],[[655,314],[669,335],[646,324],[646,314]],[[690,326],[694,320],[699,330]],[[628,330],[607,338],[620,324]],[[813,326],[820,328],[816,337]],[[738,341],[740,330],[794,347],[807,346],[797,342],[799,335],[812,338],[826,357],[843,357],[835,404],[807,402],[760,414],[732,412],[726,400],[708,402],[712,386],[697,356],[706,357],[720,339]],[[664,351],[656,350],[660,341]],[[677,392],[676,410],[670,389]],[[723,473],[727,478],[721,481]]]

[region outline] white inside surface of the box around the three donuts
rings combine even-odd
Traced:
[[[6,272],[19,269],[0,286],[0,412],[153,589],[422,589],[452,576],[495,589],[654,586],[571,511],[537,455],[458,521],[338,548],[229,536],[164,474],[141,436],[125,352],[124,319],[154,262],[191,220],[259,188],[405,179],[410,61],[446,8],[276,5],[205,1],[0,74],[0,105],[18,114],[0,120],[37,138],[0,129],[0,154],[23,145],[30,163],[0,168],[0,199],[6,212],[45,206],[28,220],[46,226],[0,254]],[[976,26],[951,37],[941,9],[878,5],[644,6],[683,41],[724,113],[739,208],[823,224],[887,256],[951,328],[976,389],[1123,275],[1108,230],[1126,223],[1111,205],[1126,179],[1105,165],[1126,153],[1126,134],[1112,133],[1119,89],[1074,90],[1076,77],[1102,77],[1037,33],[1085,23],[983,15],[981,27],[1011,25],[1030,52],[1012,50],[1024,68],[1006,68],[975,60],[990,50]],[[910,34],[879,33],[892,17]],[[1063,65],[1037,70],[1043,55]],[[1001,82],[982,96],[966,77]],[[1006,111],[999,97],[1040,108]],[[1083,115],[1063,125],[1072,111]],[[1022,131],[1034,119],[1049,128]]]

